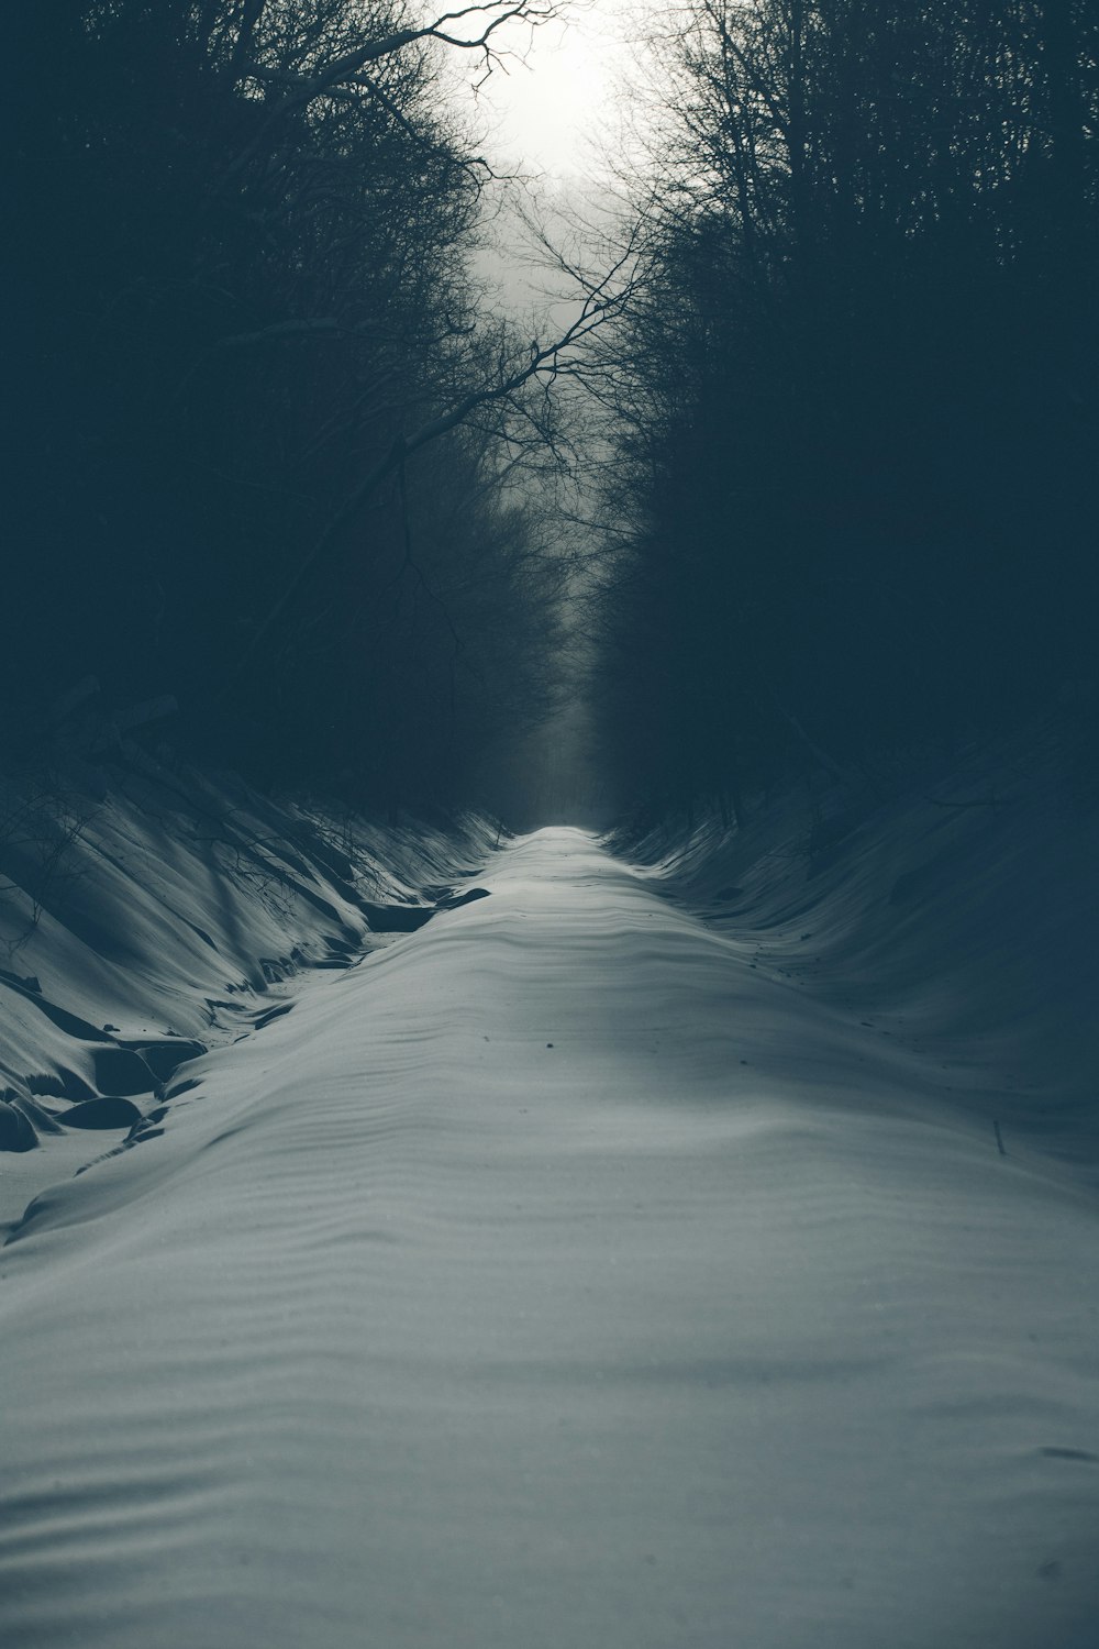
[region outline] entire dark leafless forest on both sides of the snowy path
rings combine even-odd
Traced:
[[[652,811],[1035,714],[1094,752],[1094,7],[639,15],[532,340],[455,63],[559,10],[10,20],[12,755],[89,678],[384,806],[468,800],[562,694]]]

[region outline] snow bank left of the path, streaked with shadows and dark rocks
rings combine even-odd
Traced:
[[[0,1230],[262,1024],[285,981],[425,920],[493,839],[274,803],[135,747],[48,785],[0,778]]]

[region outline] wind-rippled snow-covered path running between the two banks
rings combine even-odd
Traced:
[[[593,836],[478,882],[16,1225],[5,1644],[1094,1649],[1086,1187]]]

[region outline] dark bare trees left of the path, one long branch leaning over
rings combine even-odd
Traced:
[[[554,430],[529,333],[479,313],[489,171],[445,76],[547,10],[5,20],[5,740],[91,673],[260,777],[395,801],[540,714],[560,569],[506,477]]]

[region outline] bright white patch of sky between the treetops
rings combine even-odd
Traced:
[[[621,15],[621,0],[577,7],[567,25],[534,31],[526,68],[511,63],[509,74],[491,76],[481,106],[498,122],[494,155],[559,178],[587,170],[585,143],[610,114],[615,78],[628,61]]]

